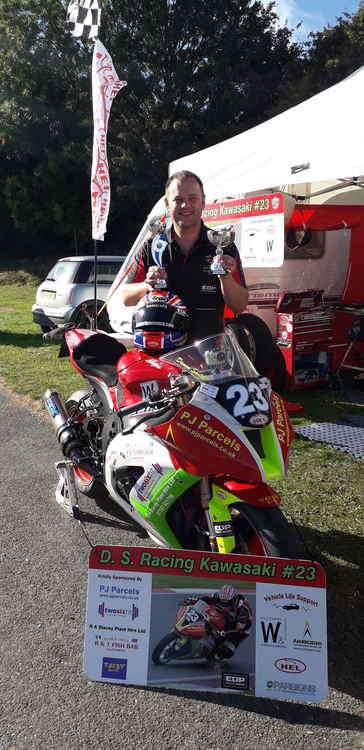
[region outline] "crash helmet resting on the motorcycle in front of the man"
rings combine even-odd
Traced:
[[[183,346],[188,331],[186,305],[177,294],[154,289],[138,302],[132,331],[135,346],[155,354]]]

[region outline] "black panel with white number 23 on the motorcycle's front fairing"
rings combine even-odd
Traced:
[[[217,401],[244,427],[265,427],[271,421],[266,378],[229,380],[219,388]]]

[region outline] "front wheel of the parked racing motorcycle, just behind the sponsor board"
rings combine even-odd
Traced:
[[[240,517],[234,518],[234,552],[263,557],[299,557],[296,532],[280,508],[259,508],[239,503],[234,506]]]

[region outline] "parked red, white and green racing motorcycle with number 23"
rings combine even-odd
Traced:
[[[86,381],[44,401],[64,460],[59,497],[108,493],[159,545],[296,557],[267,482],[285,474],[293,431],[281,397],[232,331],[160,357],[101,331],[56,329]]]

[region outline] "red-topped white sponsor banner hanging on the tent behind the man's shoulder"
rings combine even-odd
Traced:
[[[202,218],[232,224],[243,268],[278,268],[284,260],[284,198],[280,193],[205,206]]]

